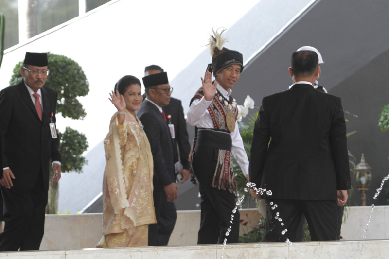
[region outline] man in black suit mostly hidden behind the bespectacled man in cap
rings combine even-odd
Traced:
[[[163,72],[163,69],[157,65],[150,65],[144,68],[144,76],[161,72]],[[174,163],[177,164],[178,161],[181,162],[182,169],[180,170],[178,168],[177,173],[182,174],[181,183],[184,183],[189,179],[190,174],[188,156],[191,151],[191,145],[189,144],[188,130],[181,100],[170,97],[169,104],[163,106],[162,110],[166,114],[168,126],[174,129],[174,135],[172,136],[174,142]]]

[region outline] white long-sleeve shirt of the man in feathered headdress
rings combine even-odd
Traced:
[[[223,87],[217,85],[219,92],[228,100],[231,95],[231,89],[228,91],[224,90]],[[195,99],[187,112],[187,121],[190,125],[196,126],[198,128],[209,128],[214,129],[213,121],[210,112],[207,110],[208,106],[212,104],[212,101],[205,100],[202,97],[200,100]],[[238,129],[238,122],[235,122],[235,130],[231,132],[232,138],[232,148],[231,152],[234,155],[236,161],[238,162],[240,168],[244,175],[248,174],[248,158],[243,146],[243,140],[240,136]]]

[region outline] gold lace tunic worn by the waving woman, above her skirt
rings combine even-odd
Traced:
[[[103,235],[156,223],[153,202],[153,156],[138,118],[125,114],[123,125],[112,116],[104,140]]]

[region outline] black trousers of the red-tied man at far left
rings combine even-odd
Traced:
[[[47,190],[42,174],[32,190],[7,189],[1,186],[4,201],[4,232],[0,234],[0,251],[39,250],[45,227]]]

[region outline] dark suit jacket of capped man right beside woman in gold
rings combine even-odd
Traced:
[[[154,190],[175,182],[173,141],[169,128],[159,109],[151,102],[143,101],[137,116],[144,126],[150,142],[154,161]]]

